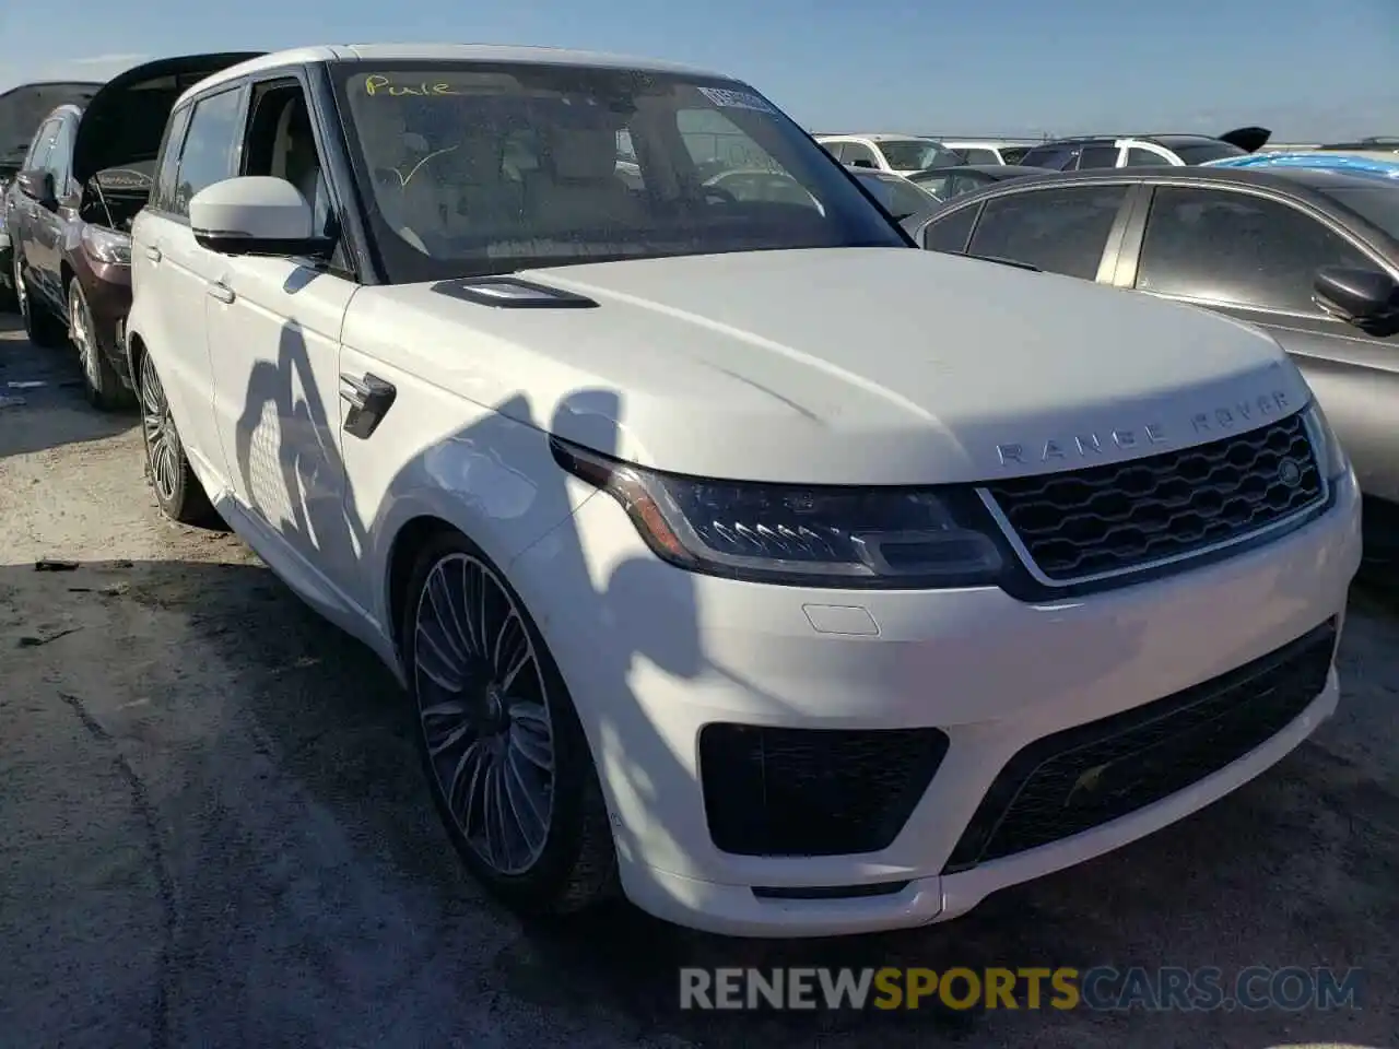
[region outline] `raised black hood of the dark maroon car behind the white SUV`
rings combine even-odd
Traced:
[[[85,185],[99,171],[155,159],[179,97],[204,77],[260,55],[185,55],[147,62],[113,77],[83,110],[73,144],[73,178]]]

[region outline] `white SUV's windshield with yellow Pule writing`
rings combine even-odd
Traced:
[[[395,283],[908,246],[828,154],[743,84],[543,63],[346,63],[336,73],[351,162]]]

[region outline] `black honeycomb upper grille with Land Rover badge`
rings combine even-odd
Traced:
[[[1119,572],[1248,536],[1319,504],[1302,415],[1184,452],[989,485],[1049,579]]]

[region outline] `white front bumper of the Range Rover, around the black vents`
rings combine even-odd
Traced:
[[[1024,747],[1224,676],[1328,620],[1339,631],[1358,562],[1347,477],[1323,518],[1265,547],[1042,604],[999,589],[853,593],[693,575],[659,562],[606,495],[509,575],[592,744],[628,897],[719,933],[827,936],[954,918],[1179,820],[1280,759],[1335,711],[1329,653],[1295,716],[1196,782],[1070,836],[949,867]],[[946,752],[883,848],[734,855],[715,845],[701,787],[715,773],[701,768],[701,733],[715,723],[936,727]]]

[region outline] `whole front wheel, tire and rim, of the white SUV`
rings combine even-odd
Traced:
[[[617,853],[592,752],[544,639],[464,536],[409,583],[404,667],[438,811],[473,874],[526,915],[611,895]]]

